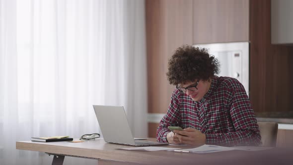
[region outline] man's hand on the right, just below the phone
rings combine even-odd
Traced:
[[[183,131],[173,131],[178,138],[179,143],[201,146],[206,144],[206,135],[194,128],[185,128]],[[167,134],[168,135],[168,134]]]

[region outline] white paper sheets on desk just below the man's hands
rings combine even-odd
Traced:
[[[235,150],[231,147],[222,147],[222,146],[215,146],[215,145],[202,145],[197,148],[193,149],[183,149],[183,150],[174,150],[175,152],[183,152],[183,153],[197,153],[197,154],[204,154],[204,153],[215,153],[221,151],[231,151]]]

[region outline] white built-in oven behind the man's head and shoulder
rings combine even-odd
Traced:
[[[230,42],[196,44],[195,47],[207,48],[220,62],[220,73],[237,79],[243,84],[249,96],[249,42]]]

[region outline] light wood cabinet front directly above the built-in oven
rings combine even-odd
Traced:
[[[193,43],[248,41],[249,0],[194,0]]]

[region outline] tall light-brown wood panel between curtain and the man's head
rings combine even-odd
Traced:
[[[183,44],[192,44],[192,0],[146,0],[148,113],[166,113],[174,86],[168,59]]]

